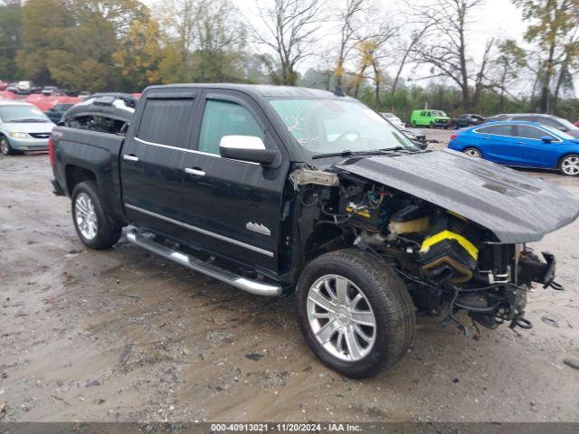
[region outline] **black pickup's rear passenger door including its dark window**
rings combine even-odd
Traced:
[[[197,90],[146,95],[121,149],[125,212],[138,227],[179,238],[184,156],[191,147]]]

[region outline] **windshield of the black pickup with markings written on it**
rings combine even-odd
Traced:
[[[355,100],[271,99],[270,104],[299,145],[313,154],[416,149],[390,122]]]

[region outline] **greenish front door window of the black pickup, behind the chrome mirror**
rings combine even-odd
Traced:
[[[226,100],[208,99],[199,135],[199,151],[219,155],[224,136],[252,136],[264,139],[263,129],[252,113]]]

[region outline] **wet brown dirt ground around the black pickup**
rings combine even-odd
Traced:
[[[429,131],[444,145],[450,132]],[[565,291],[479,340],[420,320],[413,349],[366,381],[318,363],[291,297],[229,288],[121,241],[86,250],[48,156],[0,157],[4,421],[579,420],[579,222],[537,250]],[[546,172],[579,197],[579,179]]]

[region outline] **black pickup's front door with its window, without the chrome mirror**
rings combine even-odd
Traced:
[[[206,90],[199,114],[195,152],[184,156],[184,236],[205,250],[277,273],[285,149],[259,105],[242,92]],[[224,136],[260,137],[279,156],[268,166],[223,158]]]

